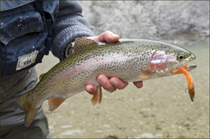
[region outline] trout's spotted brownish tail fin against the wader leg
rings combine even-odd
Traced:
[[[33,107],[32,102],[29,99],[30,92],[25,93],[20,96],[16,103],[19,105],[20,109],[25,112],[25,126],[28,127],[32,123],[34,116],[36,115],[39,108]]]

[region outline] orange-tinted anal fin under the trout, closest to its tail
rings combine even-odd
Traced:
[[[49,111],[53,111],[55,110],[59,105],[61,105],[61,103],[64,102],[64,98],[58,98],[58,97],[53,97],[53,98],[50,98],[48,100],[48,104],[49,104]]]

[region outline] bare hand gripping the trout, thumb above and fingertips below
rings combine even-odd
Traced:
[[[118,41],[120,37],[119,37],[119,35],[116,35],[111,31],[106,31],[106,32],[103,32],[102,34],[100,34],[99,36],[87,37],[87,38],[92,39],[96,42],[106,41],[106,42],[112,43],[112,42]],[[122,81],[122,80],[118,79],[117,77],[107,78],[103,74],[100,74],[97,77],[97,81],[105,90],[107,90],[109,92],[113,92],[116,89],[124,89],[128,85],[128,82]],[[134,82],[134,85],[137,88],[141,88],[143,86],[143,82],[142,81]],[[86,85],[85,90],[88,93],[94,95],[96,88],[95,88],[95,86],[88,84],[88,85]]]

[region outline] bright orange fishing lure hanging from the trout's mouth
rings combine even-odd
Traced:
[[[175,69],[171,72],[174,73],[174,74],[177,74],[177,73],[181,72],[182,74],[184,74],[186,76],[189,95],[190,95],[191,100],[193,101],[194,97],[195,97],[195,89],[194,89],[194,84],[193,84],[193,81],[192,81],[192,77],[189,74],[189,72],[187,71],[187,65],[182,67],[182,68]]]

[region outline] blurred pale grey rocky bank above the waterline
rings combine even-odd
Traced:
[[[177,42],[209,40],[209,1],[80,1],[96,35]]]

